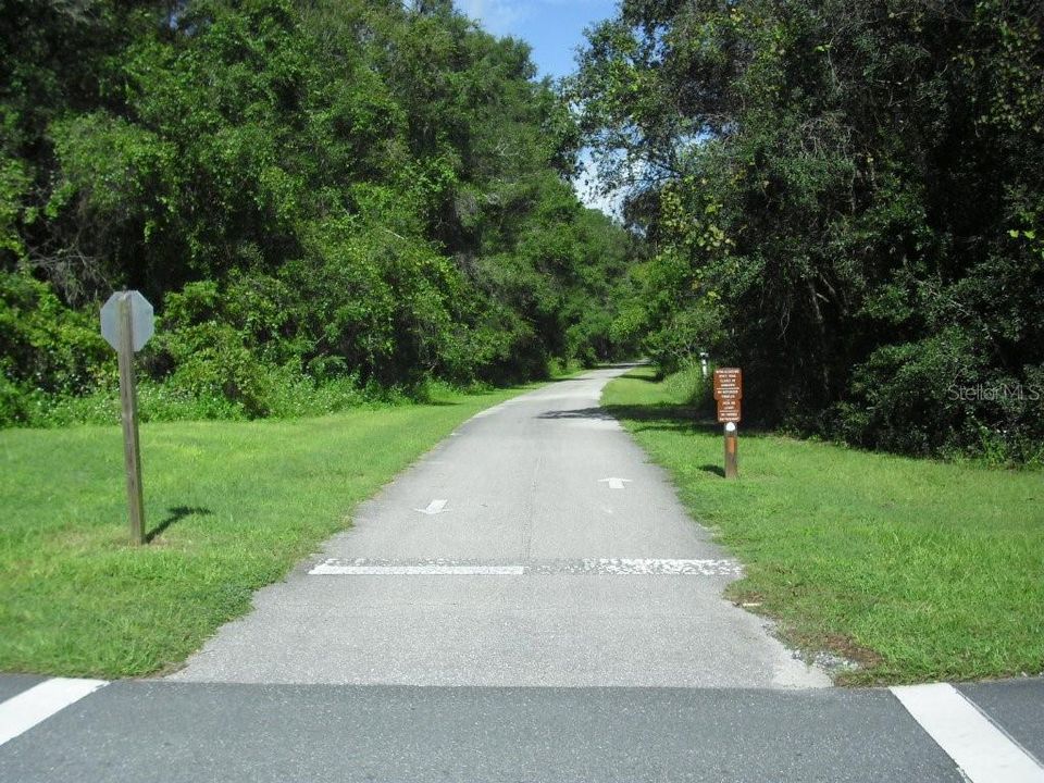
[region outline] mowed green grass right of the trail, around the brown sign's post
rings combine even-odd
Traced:
[[[861,663],[847,684],[1044,671],[1044,474],[915,460],[720,425],[638,369],[602,402],[745,564],[734,599],[786,639]]]

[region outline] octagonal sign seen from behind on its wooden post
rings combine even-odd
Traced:
[[[120,408],[123,420],[123,457],[127,473],[130,542],[145,544],[145,502],[141,488],[141,450],[138,443],[138,396],[134,386],[134,355],[154,331],[152,306],[138,291],[116,291],[101,308],[101,336],[120,358]]]

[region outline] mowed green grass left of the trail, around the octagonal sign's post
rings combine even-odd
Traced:
[[[356,504],[520,390],[142,425],[144,547],[128,544],[119,427],[0,432],[0,671],[117,678],[183,661]]]

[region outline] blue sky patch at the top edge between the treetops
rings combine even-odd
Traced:
[[[617,0],[456,0],[457,8],[497,36],[533,47],[542,76],[560,78],[574,67],[584,28],[613,15]]]

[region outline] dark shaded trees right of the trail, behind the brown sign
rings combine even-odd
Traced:
[[[1044,7],[624,0],[571,86],[655,254],[617,319],[744,411],[1044,453]]]

